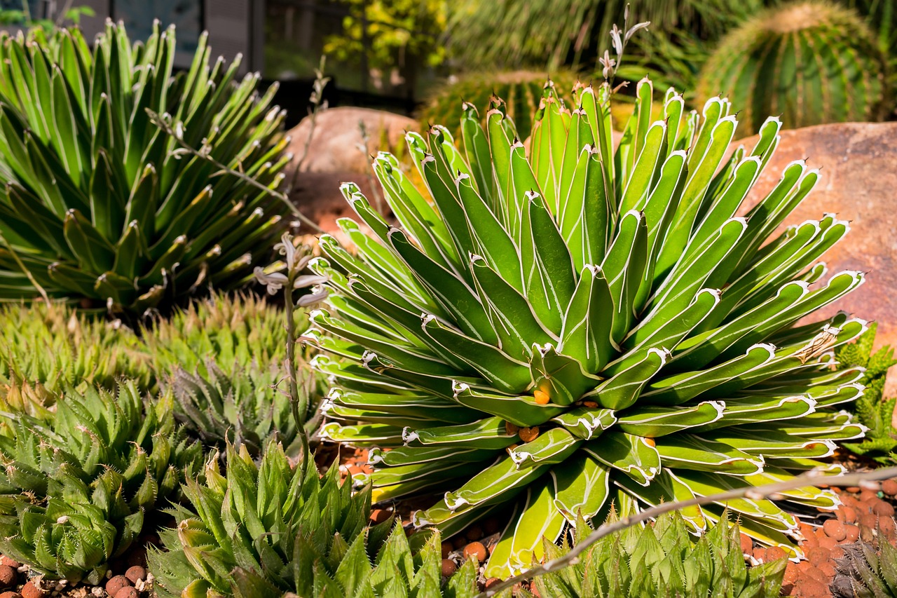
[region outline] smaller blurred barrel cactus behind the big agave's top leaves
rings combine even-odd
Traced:
[[[533,115],[539,108],[546,86],[559,92],[569,92],[576,82],[570,71],[552,73],[509,71],[504,73],[470,73],[438,88],[421,111],[421,130],[434,123],[456,127],[464,113],[465,102],[477,110],[492,108],[493,98],[504,102],[504,112],[513,120],[521,140],[529,136],[533,127]]]

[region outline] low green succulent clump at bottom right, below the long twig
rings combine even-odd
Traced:
[[[613,517],[612,517],[613,520]],[[585,522],[577,527],[588,533]],[[597,541],[575,564],[533,582],[540,596],[778,596],[787,559],[754,567],[745,565],[738,525],[723,517],[709,532],[693,541],[681,514],[658,517],[652,525],[634,525]],[[574,539],[582,541],[581,535]],[[544,542],[548,558],[570,550]],[[532,594],[518,593],[520,596]]]

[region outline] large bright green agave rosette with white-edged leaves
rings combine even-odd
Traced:
[[[796,325],[863,282],[817,261],[848,223],[776,233],[819,173],[788,164],[737,217],[779,120],[729,155],[727,100],[699,116],[671,90],[651,122],[649,81],[637,93],[615,151],[606,85],[579,86],[575,110],[546,90],[528,147],[500,110],[483,127],[467,105],[459,144],[440,127],[407,136],[426,189],[393,156],[374,160],[399,227],[346,184],[364,228],[340,221],[352,251],[320,240],[312,268],[331,295],[305,339],[334,386],[323,435],[374,447],[375,500],[435,496],[417,526],[450,536],[510,514],[487,576],[529,566],[543,537],[612,504],[839,471],[818,460],[865,432],[839,410],[862,373],[834,371],[831,351],[865,322]],[[684,516],[700,533],[728,508],[797,558],[793,507],[837,505],[800,488]]]

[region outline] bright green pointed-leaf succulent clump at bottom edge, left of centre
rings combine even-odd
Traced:
[[[161,533],[169,551],[150,551],[161,596],[440,595],[439,536],[413,559],[400,526],[367,528],[370,490],[352,495],[336,467],[303,475],[274,443],[260,464],[229,446],[225,476],[218,461],[207,463],[205,484],[187,481],[192,508],[172,509],[177,528]],[[473,561],[457,577],[455,595],[474,595]]]

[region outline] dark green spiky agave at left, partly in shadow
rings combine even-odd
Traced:
[[[174,55],[158,26],[133,46],[111,22],[92,49],[77,30],[0,38],[0,298],[42,290],[139,315],[248,279],[284,210],[258,187],[289,159],[275,87],[259,97],[238,61],[210,65],[205,35],[186,72]]]

